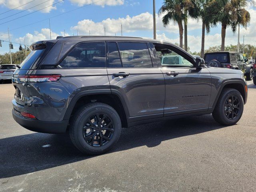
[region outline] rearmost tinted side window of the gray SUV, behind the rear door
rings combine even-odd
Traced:
[[[105,68],[105,43],[82,43],[76,46],[59,64],[62,68]]]

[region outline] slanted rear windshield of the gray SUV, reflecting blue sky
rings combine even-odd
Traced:
[[[36,63],[40,56],[44,53],[45,49],[31,51],[26,59],[20,64],[20,69],[30,69]]]

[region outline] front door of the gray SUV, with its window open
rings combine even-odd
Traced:
[[[211,75],[207,68],[194,67],[194,58],[176,46],[154,43],[154,48],[156,58],[165,55],[182,58],[182,64],[177,60],[160,62],[165,79],[164,116],[207,111],[211,94]]]

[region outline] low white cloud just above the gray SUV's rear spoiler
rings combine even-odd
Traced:
[[[60,32],[60,34],[51,32],[52,39],[56,39],[57,36],[64,36],[64,32]],[[66,36],[69,36],[69,34],[66,33]],[[16,39],[16,41],[23,42],[24,39],[26,40],[26,44],[28,44],[28,45],[30,45],[34,42],[37,42],[37,41],[50,40],[50,29],[42,28],[40,32],[34,31],[34,34],[27,33],[25,36]]]

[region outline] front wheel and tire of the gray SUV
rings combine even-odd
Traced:
[[[229,102],[230,100],[231,102]],[[234,100],[234,108],[232,107],[232,100]],[[222,125],[234,125],[242,117],[243,111],[244,100],[240,92],[236,89],[224,88],[220,94],[214,111],[212,112],[212,116],[216,122]],[[237,115],[232,118],[232,113],[237,113]]]

